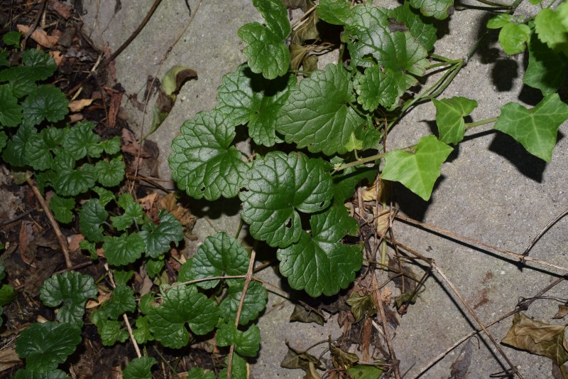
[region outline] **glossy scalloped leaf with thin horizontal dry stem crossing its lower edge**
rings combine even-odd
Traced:
[[[220,277],[223,275],[244,275],[249,268],[249,253],[239,240],[221,232],[205,238],[192,259],[190,276],[192,279]],[[209,289],[217,286],[219,279],[197,283]]]

